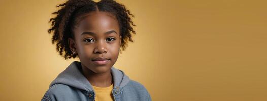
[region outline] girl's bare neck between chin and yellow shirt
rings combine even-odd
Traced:
[[[111,69],[105,73],[95,73],[82,65],[82,73],[93,86],[109,87],[113,82]]]

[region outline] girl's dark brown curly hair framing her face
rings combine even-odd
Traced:
[[[122,50],[125,50],[128,41],[133,42],[131,33],[136,34],[136,32],[132,26],[136,25],[133,24],[130,16],[134,16],[123,4],[119,4],[113,0],[102,0],[99,2],[92,0],[69,0],[57,5],[57,7],[61,7],[61,9],[52,13],[56,17],[49,20],[52,26],[48,29],[48,33],[53,33],[52,44],[56,43],[57,52],[61,56],[64,56],[65,60],[77,56],[69,48],[68,38],[74,39],[73,28],[79,22],[78,17],[92,11],[108,12],[117,18],[122,38],[120,46]],[[64,55],[63,52],[65,52]]]

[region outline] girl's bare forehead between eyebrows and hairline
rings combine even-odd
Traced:
[[[81,16],[78,27],[82,30],[105,30],[117,29],[119,25],[111,13],[93,11]]]

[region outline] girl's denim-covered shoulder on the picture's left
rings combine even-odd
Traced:
[[[76,88],[64,84],[55,84],[51,86],[42,98],[42,101],[58,100],[58,98],[71,97],[77,93]]]

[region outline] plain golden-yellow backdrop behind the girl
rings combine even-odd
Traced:
[[[135,15],[137,35],[114,66],[152,100],[267,100],[266,1],[119,2]],[[47,33],[59,3],[0,1],[0,100],[40,100],[74,61]]]

